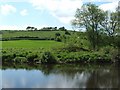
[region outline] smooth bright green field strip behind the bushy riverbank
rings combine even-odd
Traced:
[[[50,41],[50,40],[15,40],[15,41],[2,41],[2,48],[52,48],[61,46],[63,43]]]

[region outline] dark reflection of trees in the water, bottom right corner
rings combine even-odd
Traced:
[[[88,88],[118,88],[118,69],[116,67],[98,69],[94,71],[88,82]]]

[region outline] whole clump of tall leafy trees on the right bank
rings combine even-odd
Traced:
[[[72,25],[77,28],[85,28],[88,41],[93,50],[99,50],[101,46],[116,44],[119,47],[118,38],[115,34],[119,34],[118,12],[105,12],[98,8],[95,4],[84,4],[81,9],[77,9],[75,19]],[[114,38],[116,42],[114,42]],[[107,42],[106,42],[107,41]]]

